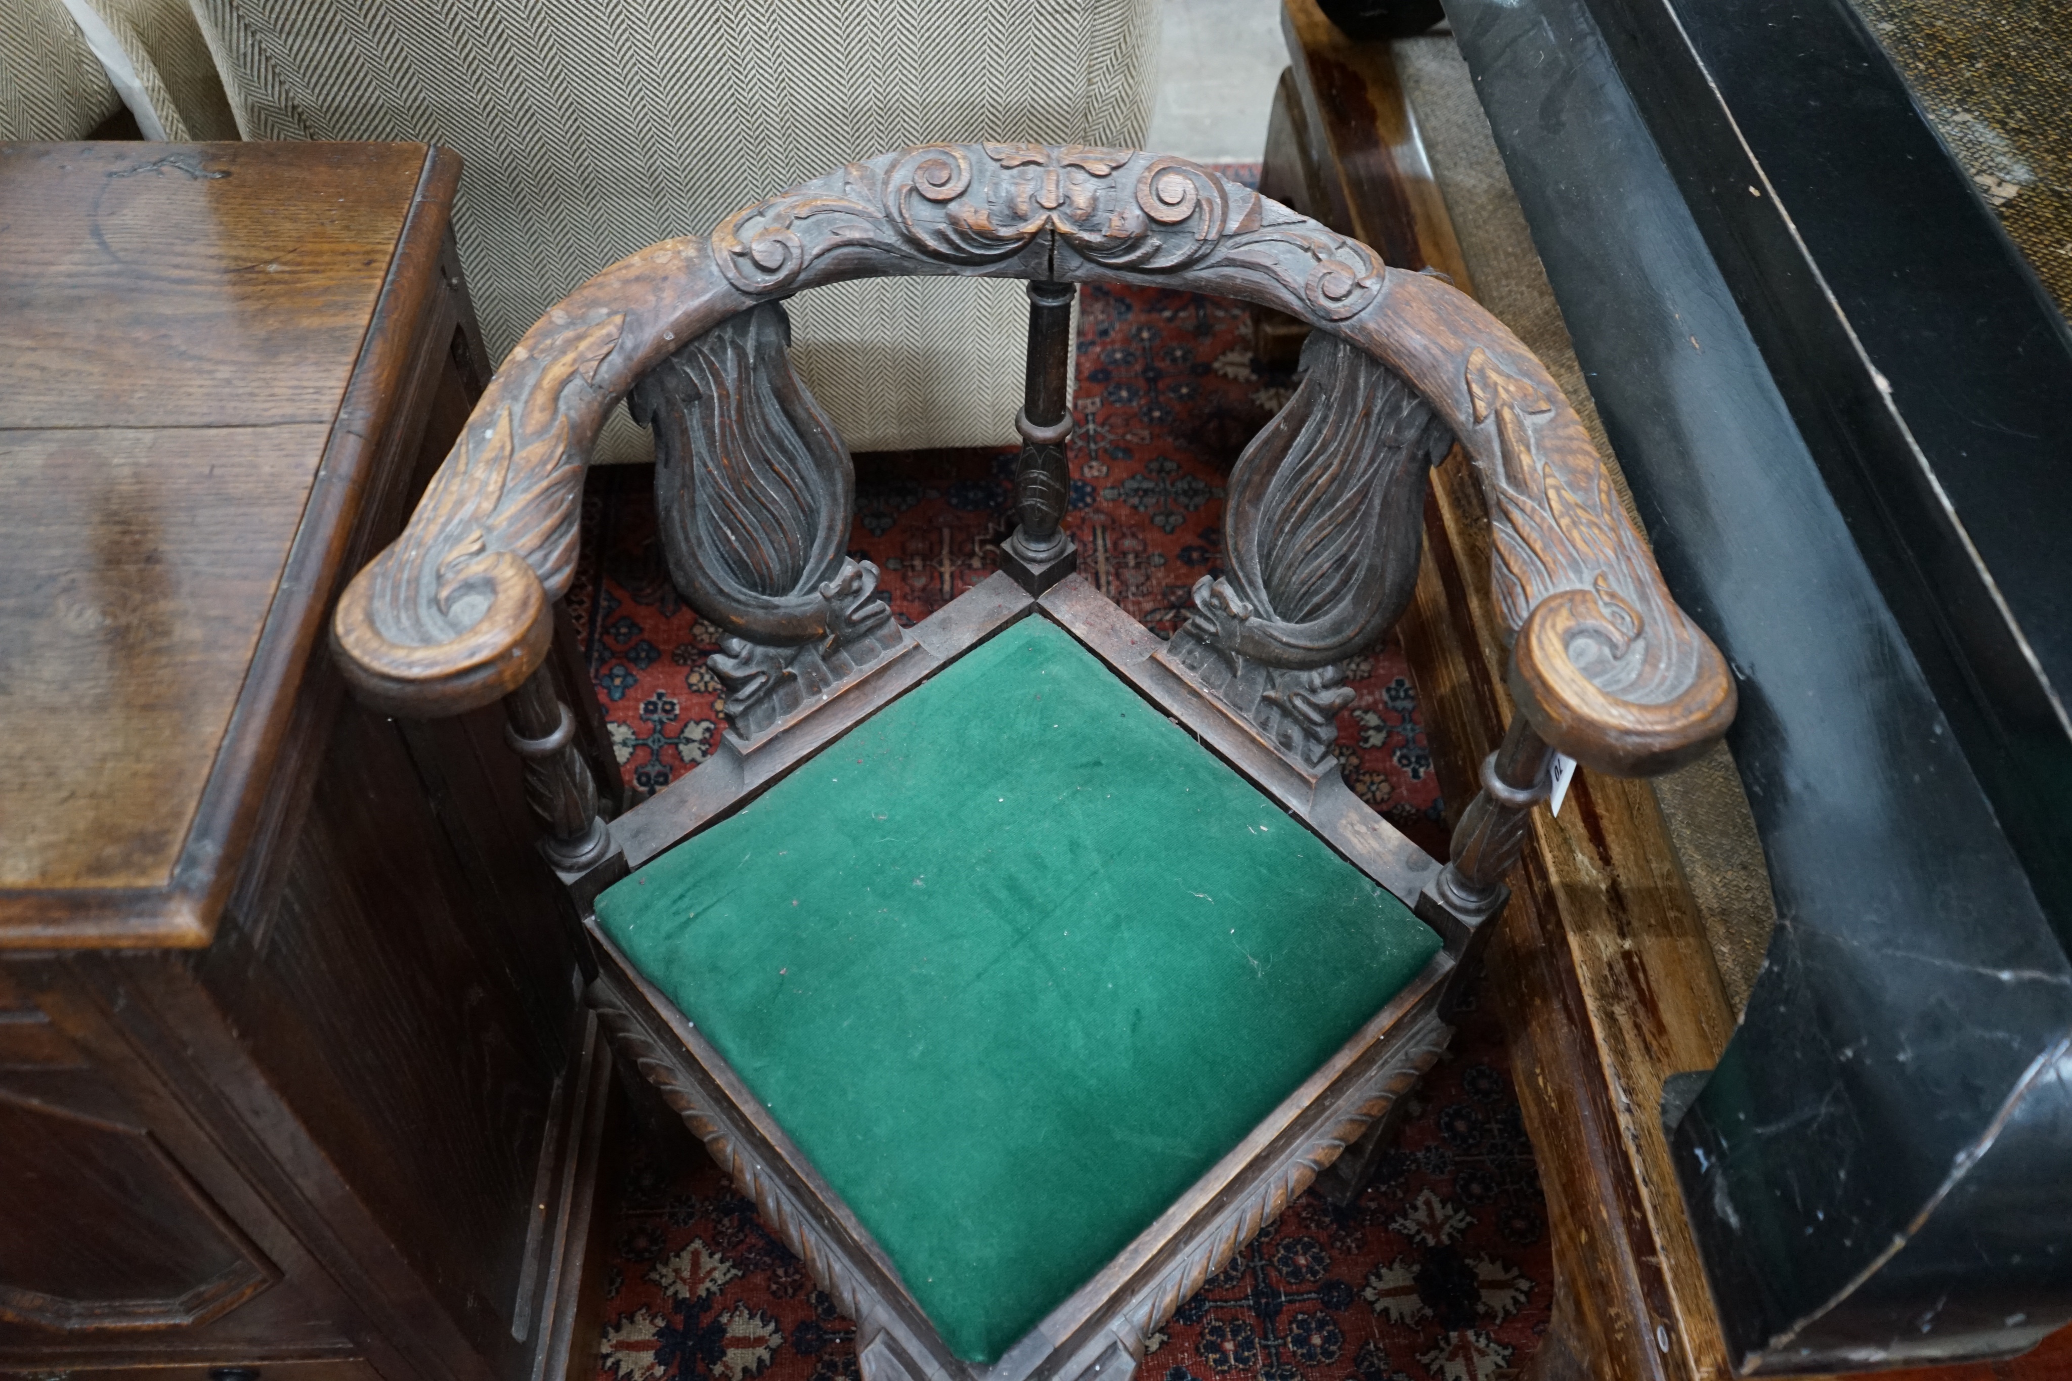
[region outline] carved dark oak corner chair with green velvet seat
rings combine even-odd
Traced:
[[[1030,280],[1019,528],[905,629],[845,555],[847,451],[777,304],[862,275]],[[1075,284],[1316,327],[1171,642],[1073,574]],[[541,669],[584,458],[657,437],[669,571],[727,629],[729,727],[609,824]],[[1440,863],[1330,756],[1341,663],[1417,574],[1426,468],[1481,476],[1519,704]],[[503,698],[632,1060],[858,1323],[868,1381],[1129,1377],[1144,1342],[1432,1064],[1554,754],[1668,770],[1734,714],[1539,362],[1193,164],[926,147],[599,273],[489,385],[334,644],[394,714]]]

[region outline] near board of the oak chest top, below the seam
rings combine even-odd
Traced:
[[[0,431],[0,886],[170,882],[327,435]]]

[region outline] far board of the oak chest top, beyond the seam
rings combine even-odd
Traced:
[[[0,427],[329,422],[423,145],[0,145]]]

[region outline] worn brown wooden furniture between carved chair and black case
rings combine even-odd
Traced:
[[[1285,14],[1297,81],[1324,62],[1368,77],[1361,101],[1330,112],[1312,145],[1318,166],[1301,176],[1336,182],[1349,207],[1411,207],[1426,255],[1411,267],[1471,286],[1388,48],[1349,43],[1312,0],[1285,0]],[[1434,472],[1426,557],[1401,623],[1448,801],[1475,793],[1515,714],[1504,619],[1479,576],[1488,563],[1479,497],[1448,462]],[[1656,1110],[1668,1075],[1711,1068],[1734,1015],[1651,791],[1579,774],[1560,818],[1533,812],[1510,880],[1490,994],[1510,1033],[1558,1277],[1533,1375],[1726,1377]]]

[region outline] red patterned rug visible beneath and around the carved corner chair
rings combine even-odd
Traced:
[[[1220,574],[1222,495],[1245,441],[1287,402],[1247,311],[1150,288],[1086,288],[1073,395],[1080,574],[1171,636]],[[1013,451],[860,456],[852,555],[916,623],[999,561]],[[646,468],[601,470],[568,596],[636,795],[694,770],[723,723],[717,629],[669,584]],[[1339,762],[1374,810],[1444,847],[1417,692],[1390,640],[1355,658]],[[673,1128],[669,1128],[673,1130]],[[613,1224],[599,1381],[852,1381],[854,1325],[694,1141],[632,1153]],[[1498,1023],[1469,1012],[1413,1095],[1368,1191],[1301,1197],[1152,1340],[1144,1381],[1496,1381],[1546,1329],[1546,1209]]]

